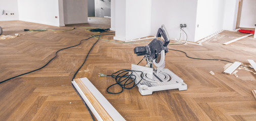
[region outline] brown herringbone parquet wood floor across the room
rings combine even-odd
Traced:
[[[67,32],[23,32],[23,29],[109,28],[110,21],[92,18],[90,24],[66,27],[5,21],[0,22],[0,26],[4,34],[21,34],[14,39],[0,40],[0,81],[3,81],[40,68],[58,49],[75,45],[92,34],[84,29]],[[186,44],[169,48],[186,51],[193,57],[222,58],[248,65],[247,59],[256,61],[256,39],[250,36],[222,45],[243,35],[224,31],[204,42],[203,46]],[[113,35],[102,38],[112,39]],[[71,79],[95,41],[92,38],[80,46],[63,50],[44,69],[0,84],[0,120],[92,120],[71,87]],[[228,63],[190,59],[178,51],[166,54],[165,68],[181,77],[188,90],[159,91],[142,96],[136,87],[121,94],[108,94],[106,88],[114,80],[100,78],[98,73],[112,74],[131,69],[131,64],[137,64],[142,58],[133,53],[134,47],[146,44],[100,40],[76,77],[87,77],[126,120],[256,120],[256,100],[251,93],[256,88],[256,75],[244,69],[238,70],[238,78],[225,75],[222,74],[223,67]],[[209,71],[215,75],[210,75]],[[119,88],[111,90],[118,91]]]

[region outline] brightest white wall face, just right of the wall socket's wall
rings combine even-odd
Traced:
[[[195,41],[203,39],[223,29],[225,1],[198,0]]]

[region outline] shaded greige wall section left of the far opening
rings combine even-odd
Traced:
[[[64,23],[88,23],[87,0],[63,0]]]

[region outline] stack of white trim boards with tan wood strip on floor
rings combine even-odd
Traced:
[[[87,78],[74,79],[72,84],[98,120],[125,120]]]

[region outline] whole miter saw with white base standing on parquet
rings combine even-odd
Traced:
[[[161,38],[162,37],[162,38]],[[179,89],[187,90],[187,84],[181,78],[168,69],[164,69],[165,53],[168,52],[167,45],[169,43],[168,33],[164,27],[158,29],[156,38],[146,46],[138,46],[134,48],[137,56],[145,56],[147,65],[139,66],[132,64],[132,70],[135,72],[136,83],[142,79],[137,85],[141,95],[152,94],[153,91]],[[156,68],[153,67],[153,64]]]

